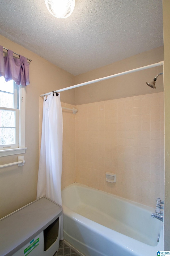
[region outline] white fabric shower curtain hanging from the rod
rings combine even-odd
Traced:
[[[44,97],[43,124],[40,149],[40,163],[37,183],[37,198],[46,196],[62,205],[62,108],[60,94]],[[61,216],[60,240],[63,239],[63,220]]]

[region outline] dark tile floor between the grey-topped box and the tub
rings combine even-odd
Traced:
[[[69,246],[65,241],[60,240],[59,249],[53,256],[83,256],[73,247]]]

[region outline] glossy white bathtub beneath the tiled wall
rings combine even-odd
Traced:
[[[155,256],[163,250],[163,222],[151,218],[150,207],[79,183],[62,190],[62,206],[64,239],[86,256]]]

